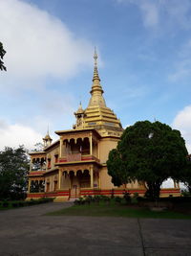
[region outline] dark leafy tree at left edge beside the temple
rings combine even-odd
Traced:
[[[23,146],[0,151],[0,199],[25,198],[29,157]]]

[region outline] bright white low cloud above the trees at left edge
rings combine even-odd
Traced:
[[[20,124],[8,124],[0,120],[0,150],[5,147],[15,147],[24,145],[32,150],[34,144],[42,141],[42,135],[34,129]]]

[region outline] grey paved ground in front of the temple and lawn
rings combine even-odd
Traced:
[[[0,255],[190,255],[191,220],[45,216],[72,203],[0,212]]]

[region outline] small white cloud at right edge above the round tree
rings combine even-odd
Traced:
[[[191,153],[191,105],[187,105],[180,110],[172,126],[180,130],[185,140],[187,150]]]

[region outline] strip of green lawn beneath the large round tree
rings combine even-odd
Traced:
[[[148,208],[137,206],[91,203],[90,205],[74,205],[56,212],[51,212],[49,216],[107,216],[107,217],[125,217],[125,218],[155,218],[155,219],[191,219],[191,215],[185,215],[173,211],[153,212]]]

